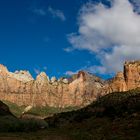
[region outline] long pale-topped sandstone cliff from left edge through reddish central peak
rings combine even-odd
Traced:
[[[41,72],[34,80],[28,71],[9,72],[0,65],[0,99],[18,105],[85,106],[100,95],[103,81],[80,71],[75,78],[52,77]]]

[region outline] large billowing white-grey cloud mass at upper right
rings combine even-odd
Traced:
[[[120,71],[125,60],[140,59],[140,15],[128,0],[114,0],[109,8],[87,3],[78,16],[79,30],[68,36],[73,49],[96,54],[94,73]]]

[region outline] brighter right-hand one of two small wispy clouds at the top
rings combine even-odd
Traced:
[[[66,20],[66,17],[61,10],[57,10],[57,9],[53,9],[52,7],[49,7],[48,11],[51,13],[53,18],[59,18],[62,21]]]

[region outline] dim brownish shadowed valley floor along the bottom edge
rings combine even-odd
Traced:
[[[0,133],[0,140],[140,140],[140,116],[95,118],[27,133]]]

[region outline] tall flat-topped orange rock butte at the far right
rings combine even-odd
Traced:
[[[140,61],[126,61],[124,71],[110,81],[108,93],[128,91],[140,87]]]

